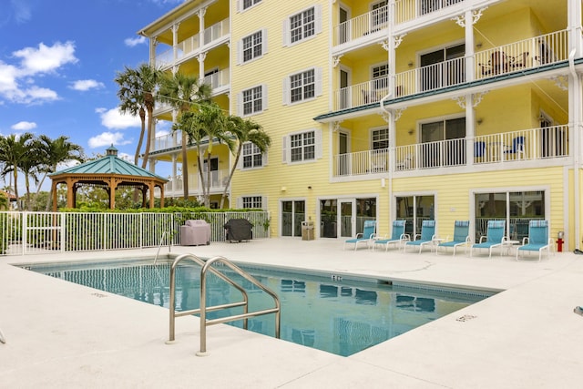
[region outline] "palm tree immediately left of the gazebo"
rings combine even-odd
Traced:
[[[79,162],[85,160],[83,157],[83,148],[75,143],[69,142],[69,138],[66,136],[51,139],[46,135],[41,135],[38,137],[38,149],[42,151],[45,157],[45,169],[43,170],[45,174],[40,181],[40,185],[38,185],[38,189],[43,185],[47,174],[56,172],[58,164],[73,160]],[[51,186],[48,192],[48,199],[46,200],[46,210],[51,209],[52,190],[53,188]]]

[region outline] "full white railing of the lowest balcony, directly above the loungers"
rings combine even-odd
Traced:
[[[569,156],[568,126],[531,128],[518,131],[416,143],[389,150],[365,150],[333,157],[333,177],[363,176],[373,173],[464,167],[518,161],[562,159]],[[470,150],[470,157],[468,152]],[[515,165],[516,166],[516,165]]]

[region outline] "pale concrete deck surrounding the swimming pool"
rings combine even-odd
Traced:
[[[343,251],[343,241],[298,239],[174,246],[172,253],[231,261],[503,290],[350,357],[11,266],[155,255],[157,249],[0,257],[0,388],[575,388],[583,382],[583,256],[515,261],[385,251]],[[166,254],[168,247],[162,248]]]

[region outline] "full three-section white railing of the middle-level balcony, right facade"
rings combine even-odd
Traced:
[[[544,67],[568,59],[567,30],[535,36],[504,46],[477,52],[474,80],[506,76],[530,68]],[[455,87],[465,84],[469,57],[449,59],[427,67],[418,67],[395,75],[395,97]],[[335,111],[363,107],[388,95],[389,77],[376,78],[334,91]]]

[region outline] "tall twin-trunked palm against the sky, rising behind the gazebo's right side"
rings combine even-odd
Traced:
[[[129,113],[132,116],[138,115],[141,121],[141,130],[139,133],[138,147],[134,156],[134,164],[138,165],[138,159],[144,135],[146,135],[146,151],[142,159],[142,169],[146,169],[149,156],[150,140],[154,127],[154,106],[156,99],[154,93],[159,87],[162,72],[148,64],[141,64],[137,69],[126,67],[115,78],[118,83],[118,97],[121,101],[119,110]],[[148,130],[146,131],[146,113],[148,113]]]

